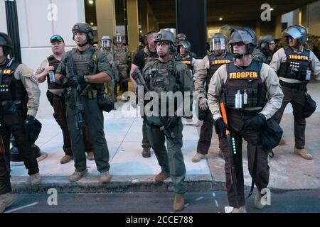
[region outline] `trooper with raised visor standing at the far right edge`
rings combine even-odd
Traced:
[[[306,104],[306,84],[314,75],[320,79],[320,62],[314,52],[304,48],[306,42],[306,28],[303,26],[291,26],[284,31],[289,47],[281,48],[274,53],[270,67],[277,72],[279,82],[284,92],[284,100],[281,108],[275,114],[280,123],[282,114],[287,104],[292,104],[294,114],[294,154],[304,159],[311,160],[312,155],[306,151],[305,131],[306,119],[302,117]],[[281,140],[285,145],[285,140]]]

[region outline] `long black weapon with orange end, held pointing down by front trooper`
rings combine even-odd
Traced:
[[[225,110],[225,103],[223,100],[220,101],[220,111],[223,118],[223,123],[228,128],[228,118],[227,111]],[[238,202],[238,189],[237,189],[237,172],[235,172],[235,163],[233,161],[233,156],[237,154],[237,149],[235,148],[235,137],[230,134],[228,129],[225,130],[225,135],[227,136],[228,154],[230,159],[230,174],[231,174],[231,184],[233,187],[233,192],[235,193],[235,203],[237,208],[239,208]]]

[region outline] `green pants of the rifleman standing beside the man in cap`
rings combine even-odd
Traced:
[[[106,172],[110,169],[109,150],[103,131],[103,114],[97,104],[97,99],[87,99],[81,96],[80,101],[83,104],[84,119],[89,126],[89,132],[92,138],[95,163],[99,172]],[[81,172],[87,167],[85,158],[85,145],[80,130],[75,126],[75,109],[73,105],[67,104],[68,130],[71,138],[71,148],[73,149],[73,158],[75,160],[75,170]]]

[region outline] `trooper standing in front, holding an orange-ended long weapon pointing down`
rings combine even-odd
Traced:
[[[251,58],[257,45],[254,31],[250,28],[237,28],[233,31],[229,43],[235,60],[220,66],[213,74],[208,89],[208,106],[215,120],[215,130],[219,135],[220,149],[225,159],[229,204],[233,206],[233,212],[245,212],[242,138],[247,141],[247,159],[252,182],[259,191],[255,196],[255,206],[262,209],[264,205],[260,201],[260,192],[269,182],[269,150],[262,146],[260,128],[280,108],[283,93],[277,74],[272,68]],[[247,94],[247,98],[243,94]],[[227,126],[219,106],[221,100],[225,101],[228,130],[235,138],[237,152],[233,155],[233,178],[225,131]]]

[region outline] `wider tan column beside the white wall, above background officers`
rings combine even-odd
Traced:
[[[105,35],[112,38],[115,35],[116,26],[114,0],[96,0],[95,7],[97,12],[98,40]]]

